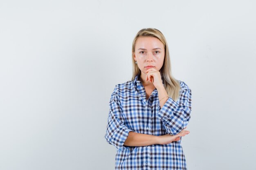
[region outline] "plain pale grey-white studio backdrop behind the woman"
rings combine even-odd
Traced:
[[[192,91],[188,170],[251,170],[256,2],[0,2],[0,170],[113,170],[110,95],[132,77],[132,40],[162,31]]]

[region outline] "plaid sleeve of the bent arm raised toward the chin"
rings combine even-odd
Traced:
[[[180,102],[168,98],[162,108],[159,106],[157,118],[160,119],[166,132],[171,135],[180,133],[189,123],[191,113],[191,89],[184,89],[180,95]]]

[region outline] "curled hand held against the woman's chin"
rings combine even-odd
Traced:
[[[146,81],[150,81],[154,84],[155,88],[163,86],[161,74],[155,68],[148,68],[146,71]]]

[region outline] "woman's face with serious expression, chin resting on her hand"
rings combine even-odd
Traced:
[[[153,66],[159,71],[164,63],[164,44],[155,37],[139,37],[135,44],[134,59],[141,73]]]

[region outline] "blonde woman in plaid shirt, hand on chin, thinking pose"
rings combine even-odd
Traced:
[[[191,113],[191,89],[171,75],[164,35],[141,29],[132,43],[132,80],[111,95],[104,138],[117,148],[116,170],[186,170],[180,144]]]

